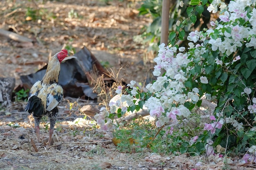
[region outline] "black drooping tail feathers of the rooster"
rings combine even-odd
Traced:
[[[25,111],[28,111],[30,114],[33,112],[33,115],[36,117],[42,116],[44,113],[42,100],[37,96],[30,97]]]

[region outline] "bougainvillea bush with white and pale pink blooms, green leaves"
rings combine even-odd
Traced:
[[[193,13],[202,13],[207,2],[191,1],[196,4],[187,9],[192,22],[196,20]],[[245,161],[254,161],[249,156],[256,152],[255,4],[255,0],[229,4],[213,0],[207,10],[216,13],[219,9],[220,20],[211,21],[209,29],[189,33],[188,48],[175,45],[188,20],[177,21],[177,32],[169,35],[171,43],[159,45],[153,71],[157,79],[146,85],[148,92],[139,91],[134,81],[125,95],[119,87],[120,100],[111,103],[110,110],[102,108],[95,116],[97,123],[104,130],[114,129],[113,114],[121,117],[127,111],[146,108],[156,118],[157,127],[170,121],[179,124],[207,99],[217,104],[211,122],[204,124],[201,135],[191,138],[192,143],[184,141],[186,146],[211,155],[220,145],[235,153],[247,152]]]

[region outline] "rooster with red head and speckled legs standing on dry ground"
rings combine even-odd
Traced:
[[[25,111],[33,115],[35,120],[35,131],[40,142],[39,124],[43,115],[50,118],[49,140],[51,145],[52,134],[58,115],[57,105],[63,100],[63,88],[58,84],[61,71],[61,62],[68,56],[67,50],[63,49],[49,60],[46,73],[42,80],[38,80],[30,89]]]

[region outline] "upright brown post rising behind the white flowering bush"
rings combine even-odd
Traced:
[[[167,46],[169,37],[169,11],[170,0],[163,0],[162,4],[162,24],[161,24],[161,39],[160,44],[164,43]]]

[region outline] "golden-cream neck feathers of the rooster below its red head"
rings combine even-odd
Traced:
[[[57,55],[54,55],[49,61],[46,73],[43,77],[44,84],[58,83],[58,76],[61,71],[61,64],[58,60]]]

